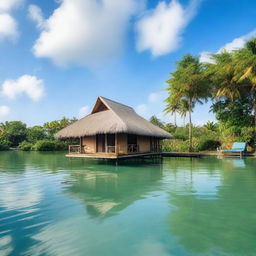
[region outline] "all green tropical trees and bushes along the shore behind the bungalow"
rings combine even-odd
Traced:
[[[201,63],[190,54],[176,63],[167,80],[168,97],[164,113],[174,116],[164,123],[156,116],[150,121],[170,132],[174,139],[163,142],[164,151],[201,151],[229,148],[235,141],[256,148],[256,39],[244,48],[211,55]],[[192,112],[197,104],[211,102],[216,123],[193,125]],[[176,116],[184,121],[177,126]],[[185,120],[188,116],[188,123]],[[42,126],[27,127],[20,121],[0,123],[0,150],[66,150],[71,141],[58,141],[54,134],[76,121],[62,118]]]

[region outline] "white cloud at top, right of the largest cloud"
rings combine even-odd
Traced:
[[[172,0],[160,2],[136,24],[137,50],[150,50],[153,56],[175,51],[181,44],[182,33],[196,13],[199,1],[192,0],[188,8]]]

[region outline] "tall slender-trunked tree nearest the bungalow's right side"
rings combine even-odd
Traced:
[[[188,102],[189,113],[189,150],[192,151],[192,117],[196,103],[207,100],[208,86],[204,68],[197,57],[185,55],[177,62],[177,69],[171,73],[168,92],[172,101]]]

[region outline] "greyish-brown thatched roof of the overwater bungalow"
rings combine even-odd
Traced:
[[[55,138],[77,138],[106,133],[129,133],[172,138],[163,129],[140,117],[133,108],[98,97],[92,113],[55,134]]]

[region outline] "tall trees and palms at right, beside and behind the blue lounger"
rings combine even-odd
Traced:
[[[211,100],[218,121],[219,136],[230,141],[246,139],[256,143],[256,38],[244,48],[210,55],[210,63],[185,55],[170,74],[164,112],[188,115],[189,151],[193,149],[191,113],[196,104]],[[174,121],[176,126],[176,121]],[[246,138],[245,138],[246,137]]]

